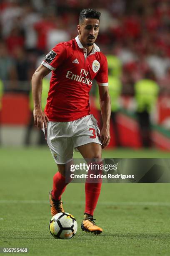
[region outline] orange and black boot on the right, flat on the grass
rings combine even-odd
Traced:
[[[94,220],[95,219],[93,219],[93,217],[89,217],[86,220],[83,220],[81,223],[82,231],[85,230],[85,232],[91,232],[94,233],[95,235],[102,233],[102,228],[99,228],[94,222]]]

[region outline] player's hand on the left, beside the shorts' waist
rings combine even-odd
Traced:
[[[45,113],[42,111],[42,109],[34,109],[33,115],[35,126],[37,126],[38,129],[46,129],[49,119],[47,118],[47,115],[45,115]]]

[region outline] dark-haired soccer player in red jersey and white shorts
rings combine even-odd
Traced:
[[[61,195],[65,191],[66,163],[77,148],[84,159],[101,161],[102,148],[110,141],[110,95],[108,92],[107,59],[95,40],[99,33],[100,13],[84,9],[77,25],[78,36],[57,44],[32,76],[34,120],[44,129],[47,144],[57,163],[49,199],[52,216],[64,212]],[[52,71],[45,111],[41,109],[42,79]],[[101,132],[97,120],[90,114],[89,92],[92,80],[99,85],[102,114]],[[82,230],[101,233],[93,219],[100,195],[101,182],[85,183],[85,212]]]

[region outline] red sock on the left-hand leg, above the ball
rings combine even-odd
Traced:
[[[62,193],[65,191],[68,183],[65,183],[65,177],[57,172],[53,177],[53,189],[52,189],[52,197],[55,200],[60,200]]]

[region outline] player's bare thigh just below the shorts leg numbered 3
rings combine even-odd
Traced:
[[[102,158],[102,146],[98,143],[87,143],[82,146],[78,146],[77,149],[85,159],[101,159]]]

